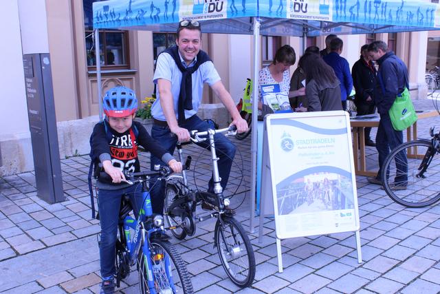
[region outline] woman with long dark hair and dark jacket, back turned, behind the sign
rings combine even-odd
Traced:
[[[298,64],[305,72],[308,112],[342,110],[340,81],[318,54],[306,53]]]

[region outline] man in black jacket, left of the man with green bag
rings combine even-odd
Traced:
[[[374,114],[374,88],[376,85],[376,69],[371,62],[368,51],[369,45],[363,45],[360,49],[360,59],[355,62],[351,69],[353,86],[355,87],[355,105],[358,116]],[[365,128],[365,145],[375,146],[370,138],[371,127]]]

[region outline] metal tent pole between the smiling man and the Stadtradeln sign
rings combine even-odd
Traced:
[[[258,119],[258,101],[259,101],[259,60],[260,58],[260,19],[254,17],[254,80],[252,83],[252,147],[251,147],[251,186],[250,186],[250,233],[254,233],[255,218],[255,188],[256,188],[256,143],[257,143],[257,119]],[[263,134],[261,134],[263,136]],[[261,209],[260,209],[260,217]]]

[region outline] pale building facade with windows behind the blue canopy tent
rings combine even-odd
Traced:
[[[26,46],[45,39],[50,53],[52,83],[58,144],[61,158],[89,152],[89,134],[98,121],[96,60],[91,31],[92,0],[6,0],[0,6],[7,11],[0,20],[6,30],[7,46],[1,46],[5,59],[0,85],[4,95],[0,107],[0,176],[33,169],[32,145],[25,96],[22,54]],[[203,24],[202,24],[203,25]],[[39,34],[25,34],[23,28],[43,26]],[[203,30],[203,26],[202,26]],[[413,98],[426,94],[427,32],[340,36],[344,41],[344,56],[353,65],[360,55],[360,47],[380,39],[393,44],[397,55],[408,65]],[[100,33],[100,64],[102,93],[114,85],[126,85],[138,98],[151,96],[154,91],[153,70],[155,57],[173,44],[175,35],[147,31],[102,31]],[[203,34],[202,48],[210,54],[214,65],[238,101],[245,80],[253,76],[253,37],[249,35]],[[308,42],[325,47],[325,36]],[[261,63],[270,63],[276,48],[289,44],[301,52],[298,37],[261,37]],[[423,52],[423,54],[419,54]],[[297,58],[298,59],[298,58]],[[423,66],[421,66],[423,65]],[[296,65],[292,67],[293,73]],[[206,87],[203,103],[219,103]],[[4,106],[4,107],[3,107]]]

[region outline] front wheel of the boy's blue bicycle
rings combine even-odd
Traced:
[[[137,258],[138,273],[139,273],[139,288],[141,294],[150,293],[148,289],[148,272],[153,274],[155,290],[157,293],[183,293],[192,294],[194,293],[192,289],[192,283],[190,275],[186,269],[184,260],[181,259],[179,253],[173,245],[168,241],[153,239],[150,242],[151,250],[151,262],[153,264],[153,269],[148,271],[146,266],[146,255],[141,251],[139,257]],[[166,265],[166,258],[169,258],[169,264]],[[170,286],[168,277],[166,275],[166,268],[171,269],[173,278],[173,285],[175,288]],[[179,281],[176,281],[176,278]]]

